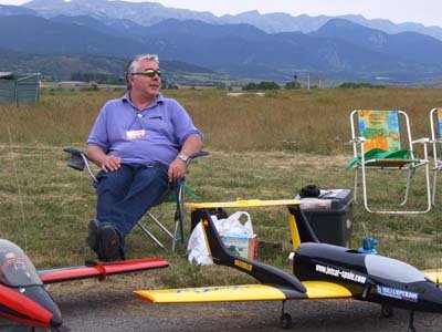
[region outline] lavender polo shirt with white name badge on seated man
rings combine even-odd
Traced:
[[[176,100],[159,94],[156,102],[138,111],[126,93],[103,106],[87,145],[99,146],[106,154],[120,157],[124,164],[169,165],[191,134],[202,138]]]

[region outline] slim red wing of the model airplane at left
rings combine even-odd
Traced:
[[[55,283],[87,278],[106,279],[107,276],[129,273],[136,271],[167,268],[169,262],[164,259],[134,259],[114,262],[92,262],[91,264],[40,270],[39,276],[43,283]]]

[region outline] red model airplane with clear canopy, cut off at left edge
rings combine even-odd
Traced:
[[[86,266],[35,270],[14,243],[0,239],[0,317],[32,328],[57,328],[63,319],[44,284],[166,268],[162,259],[91,262]]]

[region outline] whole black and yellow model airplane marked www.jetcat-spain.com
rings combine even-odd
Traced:
[[[249,206],[260,205],[253,200]],[[214,301],[283,301],[281,325],[288,329],[292,318],[284,312],[286,300],[354,298],[381,304],[383,317],[392,308],[410,311],[410,330],[414,331],[414,311],[442,312],[442,290],[439,271],[423,273],[402,261],[361,253],[345,247],[319,243],[297,200],[282,200],[290,211],[290,228],[294,247],[293,272],[234,256],[221,241],[209,214],[202,206],[201,220],[213,262],[245,272],[261,284],[204,287],[171,290],[140,290],[135,294],[151,303],[188,303]],[[274,206],[275,204],[273,204]],[[242,207],[248,205],[242,204]],[[224,205],[236,207],[236,205]]]

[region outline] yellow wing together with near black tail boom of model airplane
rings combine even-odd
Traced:
[[[343,286],[325,281],[299,281],[295,276],[257,261],[233,256],[223,246],[209,215],[202,224],[209,251],[217,264],[245,272],[261,284],[144,290],[134,293],[151,303],[276,301],[351,298]]]

